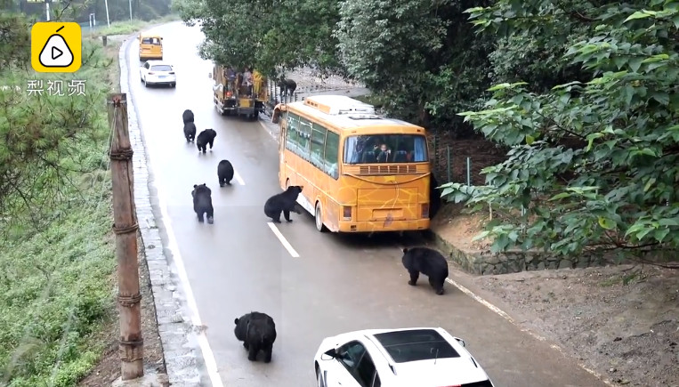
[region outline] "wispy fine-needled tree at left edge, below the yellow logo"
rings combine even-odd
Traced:
[[[61,4],[66,7],[68,4]],[[63,8],[55,10],[62,14]],[[100,167],[101,155],[87,158],[76,149],[101,141],[101,125],[93,101],[101,84],[85,84],[85,96],[69,96],[69,82],[87,79],[88,71],[108,66],[94,47],[83,45],[83,65],[75,74],[36,74],[30,69],[30,26],[20,13],[0,15],[0,230],[27,221],[40,227],[59,214],[53,208],[69,198],[74,172]],[[28,91],[29,81],[33,89]],[[50,83],[61,82],[64,95],[47,95]],[[86,81],[85,81],[86,82]],[[42,87],[40,87],[42,85]],[[75,89],[74,89],[75,90]],[[85,157],[85,158],[84,158]],[[75,203],[74,203],[75,204]],[[2,238],[0,238],[2,239]]]

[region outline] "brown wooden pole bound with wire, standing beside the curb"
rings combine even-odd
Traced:
[[[122,380],[144,375],[141,338],[141,294],[137,262],[137,211],[134,206],[132,144],[127,128],[125,93],[109,94],[109,123],[113,127],[110,149],[113,182],[113,230],[116,232],[118,305],[120,310],[120,361]]]

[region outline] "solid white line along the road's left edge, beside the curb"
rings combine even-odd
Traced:
[[[163,225],[166,228],[167,233],[167,248],[172,252],[174,263],[177,266],[177,274],[179,279],[182,281],[182,286],[184,292],[186,293],[186,302],[189,304],[189,309],[191,310],[191,324],[194,327],[203,327],[203,322],[198,314],[198,303],[193,295],[193,290],[191,289],[191,284],[189,282],[189,276],[186,273],[186,268],[184,266],[184,261],[182,260],[182,254],[179,253],[179,246],[177,245],[177,239],[174,238],[174,230],[172,228],[172,222],[170,221],[170,216],[167,214],[167,209],[165,206],[165,199],[160,194],[160,189],[158,189],[158,206],[160,207],[160,214],[163,216]],[[198,329],[198,346],[200,351],[203,353],[203,359],[206,362],[207,375],[210,377],[213,387],[223,387],[222,378],[219,376],[219,370],[217,369],[217,362],[214,360],[214,352],[210,348],[210,343],[207,341],[207,336],[202,329]]]

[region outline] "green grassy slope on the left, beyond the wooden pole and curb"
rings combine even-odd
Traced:
[[[138,22],[134,28],[143,28],[148,23]],[[132,27],[125,28],[120,27],[118,31],[134,31]],[[76,160],[76,164],[89,169],[86,173],[72,173],[72,185],[63,189],[59,206],[45,211],[45,217],[55,220],[39,232],[28,225],[12,225],[12,232],[3,233],[5,238],[0,245],[2,386],[76,386],[96,366],[109,344],[107,335],[102,333],[114,327],[117,316],[117,263],[115,237],[111,232],[106,97],[107,93],[119,90],[118,48],[119,44],[104,48],[101,40],[85,37],[84,57],[85,52],[93,53],[77,73],[37,75],[32,71],[17,71],[7,77],[22,89],[26,88],[28,79],[44,78],[45,83],[58,78],[66,82],[69,78],[86,79],[86,103],[96,117],[91,133],[76,140],[76,154],[63,160],[64,164],[73,164]],[[35,96],[23,98],[27,98],[28,104],[37,103],[31,101]],[[67,102],[85,99],[82,96],[50,98]]]

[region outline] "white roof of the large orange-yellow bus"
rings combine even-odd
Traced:
[[[287,110],[303,113],[336,129],[350,131],[360,127],[393,127],[406,126],[412,129],[424,129],[422,126],[410,124],[396,118],[379,117],[375,107],[345,95],[314,95],[304,101],[286,104]]]

